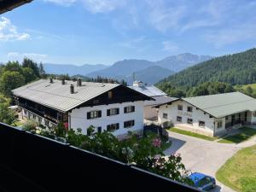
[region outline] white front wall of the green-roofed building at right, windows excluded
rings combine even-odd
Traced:
[[[177,105],[182,105],[183,110],[177,110]],[[187,108],[192,107],[192,113],[187,112]],[[163,119],[163,113],[167,113],[168,118]],[[182,122],[177,121],[177,116],[182,117]],[[165,121],[171,120],[174,126],[188,129],[189,131],[206,133],[207,135],[213,136],[214,131],[214,118],[210,118],[209,114],[205,114],[201,109],[196,109],[188,102],[177,101],[172,102],[171,105],[162,105],[159,108],[158,119],[161,124]],[[187,123],[187,119],[193,119],[193,125]],[[199,121],[205,122],[205,127],[199,126]],[[224,124],[224,123],[223,123]]]

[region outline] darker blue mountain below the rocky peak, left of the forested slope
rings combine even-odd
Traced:
[[[166,78],[169,75],[173,74],[170,69],[166,69],[160,66],[150,66],[143,70],[137,71],[134,73],[135,79],[141,80],[147,84],[155,84],[160,81],[160,79]],[[115,79],[121,80],[124,79],[127,84],[133,83],[133,74],[130,76],[116,76]]]

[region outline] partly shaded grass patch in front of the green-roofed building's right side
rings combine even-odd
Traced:
[[[239,129],[240,133],[237,133],[234,136],[224,137],[219,140],[218,143],[241,143],[246,141],[247,139],[256,135],[256,129],[242,127]]]

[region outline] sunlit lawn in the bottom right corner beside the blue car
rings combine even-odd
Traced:
[[[239,192],[256,191],[256,145],[238,151],[216,173],[218,181]]]

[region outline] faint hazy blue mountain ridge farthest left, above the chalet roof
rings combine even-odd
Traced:
[[[67,74],[68,73],[71,76],[76,74],[87,75],[88,73],[102,70],[107,67],[108,66],[105,66],[102,64],[97,64],[97,65],[85,64],[83,66],[51,64],[51,63],[44,64],[44,70],[46,73],[50,73],[50,74]]]

